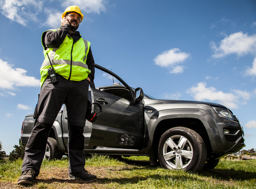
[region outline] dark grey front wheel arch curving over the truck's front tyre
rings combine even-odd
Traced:
[[[197,132],[204,140],[207,148],[207,153],[212,153],[212,144],[209,138],[209,130],[206,129],[203,122],[200,118],[208,114],[204,110],[165,110],[160,111],[158,118],[154,120],[150,120],[148,124],[148,148],[147,152],[150,154],[150,164],[156,165],[158,156],[157,156],[157,147],[159,139],[161,138],[162,134],[171,129],[173,127],[182,126],[187,127],[189,129],[194,130]],[[152,116],[153,117],[153,116]]]

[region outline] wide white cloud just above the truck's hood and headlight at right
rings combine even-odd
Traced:
[[[238,108],[239,104],[246,104],[250,99],[250,93],[241,90],[232,90],[233,93],[224,93],[214,87],[206,87],[205,82],[197,83],[187,90],[196,101],[217,101],[228,108]]]

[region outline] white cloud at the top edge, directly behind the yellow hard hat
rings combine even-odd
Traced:
[[[97,13],[100,14],[100,11],[106,10],[106,0],[64,0],[62,3],[63,7],[68,7],[70,5],[79,6],[82,13],[83,11],[86,13]],[[84,13],[83,13],[84,15]]]

